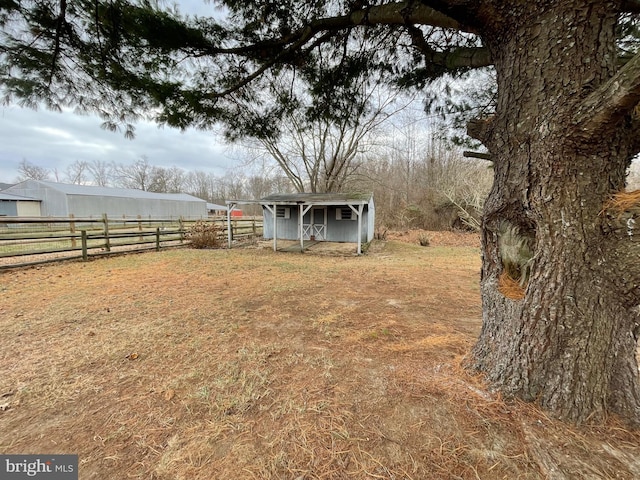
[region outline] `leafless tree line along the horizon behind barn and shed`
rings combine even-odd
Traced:
[[[62,171],[23,159],[16,180],[187,193],[223,205],[230,199],[260,199],[300,190],[298,183],[283,173],[277,158],[262,156],[258,164],[251,156],[255,149],[243,151],[247,161],[222,176],[162,167],[142,156],[130,164],[76,160]],[[460,148],[435,133],[424,135],[416,127],[405,127],[396,129],[384,145],[356,155],[349,164],[349,174],[334,192],[372,192],[382,230],[477,229],[492,175],[490,162],[464,158]],[[260,213],[251,206],[245,211]]]

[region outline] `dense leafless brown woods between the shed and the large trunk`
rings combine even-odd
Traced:
[[[492,183],[490,163],[467,159],[420,112],[396,119],[386,144],[363,165],[357,190],[371,190],[376,218],[391,228],[475,228]]]

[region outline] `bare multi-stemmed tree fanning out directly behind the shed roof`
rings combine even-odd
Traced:
[[[275,95],[289,86],[272,84]],[[275,162],[298,192],[341,192],[355,176],[376,143],[384,123],[411,99],[364,80],[358,95],[342,104],[340,115],[310,115],[309,98],[298,96],[295,107],[281,112],[278,132],[247,136],[243,145],[253,160]]]

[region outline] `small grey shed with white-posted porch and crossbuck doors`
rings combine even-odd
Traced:
[[[373,240],[375,207],[372,193],[292,193],[264,197],[257,202],[227,201],[229,216],[237,205],[259,203],[264,216],[264,237],[305,241],[357,243]]]

